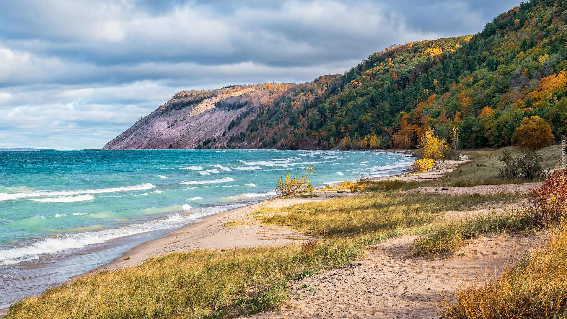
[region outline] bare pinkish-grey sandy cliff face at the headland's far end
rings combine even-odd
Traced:
[[[206,148],[226,147],[230,135],[244,131],[255,112],[269,106],[274,95],[289,86],[265,83],[182,91],[103,149],[192,149],[203,144]]]

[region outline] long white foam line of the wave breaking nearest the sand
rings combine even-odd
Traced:
[[[185,206],[189,205],[183,205],[183,207]],[[99,232],[66,234],[60,237],[45,238],[44,240],[31,245],[14,249],[0,250],[0,266],[37,259],[41,254],[49,254],[56,251],[82,248],[91,244],[99,244],[113,238],[150,232],[151,230],[178,227],[186,224],[187,222],[196,221],[198,220],[198,217],[205,215],[209,215],[209,212],[196,213],[191,215],[180,215],[179,213],[174,213],[168,216],[167,219],[154,220],[144,224],[127,225],[121,228],[100,230]]]

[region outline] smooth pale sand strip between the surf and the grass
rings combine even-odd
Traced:
[[[266,199],[260,203],[214,213],[194,223],[164,233],[166,237],[144,242],[133,249],[125,251],[121,257],[114,259],[112,262],[84,274],[73,276],[71,280],[78,280],[84,276],[94,275],[101,271],[137,266],[145,259],[171,253],[187,253],[201,249],[222,250],[294,244],[298,241],[307,240],[310,237],[284,226],[251,224],[249,222],[253,220],[249,218],[250,214],[261,208],[289,207],[295,204],[331,200],[337,197],[359,196],[365,193],[337,193],[335,191],[323,190],[316,191],[314,194],[317,194],[317,196],[310,198]],[[246,220],[246,225],[240,224],[244,223],[244,220]],[[242,222],[239,223],[239,221]],[[235,225],[226,226],[228,223]]]

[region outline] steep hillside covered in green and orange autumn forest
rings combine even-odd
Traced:
[[[476,35],[392,45],[342,75],[285,85],[206,147],[414,148],[425,128],[447,136],[455,125],[464,148],[499,147],[534,115],[557,141],[567,132],[566,9],[532,0]]]

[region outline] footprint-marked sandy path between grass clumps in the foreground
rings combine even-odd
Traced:
[[[540,242],[539,235],[486,235],[471,240],[462,256],[431,260],[411,257],[415,238],[370,246],[355,262],[362,266],[302,279],[290,286],[291,300],[284,307],[247,318],[436,318],[442,295],[450,297],[455,286],[473,278],[498,275],[495,269]]]

